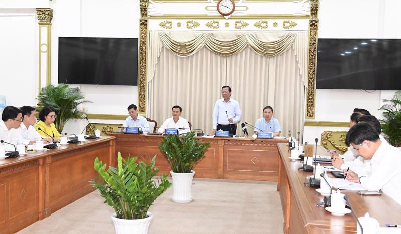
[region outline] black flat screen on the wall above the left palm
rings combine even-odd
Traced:
[[[59,37],[59,83],[138,85],[138,38]]]

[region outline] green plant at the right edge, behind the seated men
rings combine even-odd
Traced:
[[[380,120],[383,133],[389,137],[389,143],[401,147],[401,90],[394,93],[391,100],[383,99],[385,103],[379,110],[384,110]]]

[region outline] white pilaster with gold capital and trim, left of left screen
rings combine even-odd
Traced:
[[[42,87],[42,74],[45,74],[46,85],[50,84],[51,74],[51,36],[52,36],[52,19],[53,9],[51,8],[37,8],[36,18],[39,24],[39,92]],[[46,55],[46,61],[43,61],[42,55]],[[42,64],[46,63],[46,70],[42,70]]]

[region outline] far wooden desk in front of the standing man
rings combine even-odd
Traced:
[[[159,148],[163,136],[138,134],[110,134],[116,137],[116,153],[121,151],[149,162],[154,155],[160,173],[169,174],[170,164]],[[277,143],[284,139],[198,138],[210,142],[205,157],[194,170],[195,177],[277,181],[279,153]]]

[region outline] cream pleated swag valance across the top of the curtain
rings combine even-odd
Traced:
[[[262,56],[272,57],[289,49],[296,37],[294,32],[160,32],[163,46],[177,56],[186,57],[204,46],[219,56],[232,56],[247,46]]]

